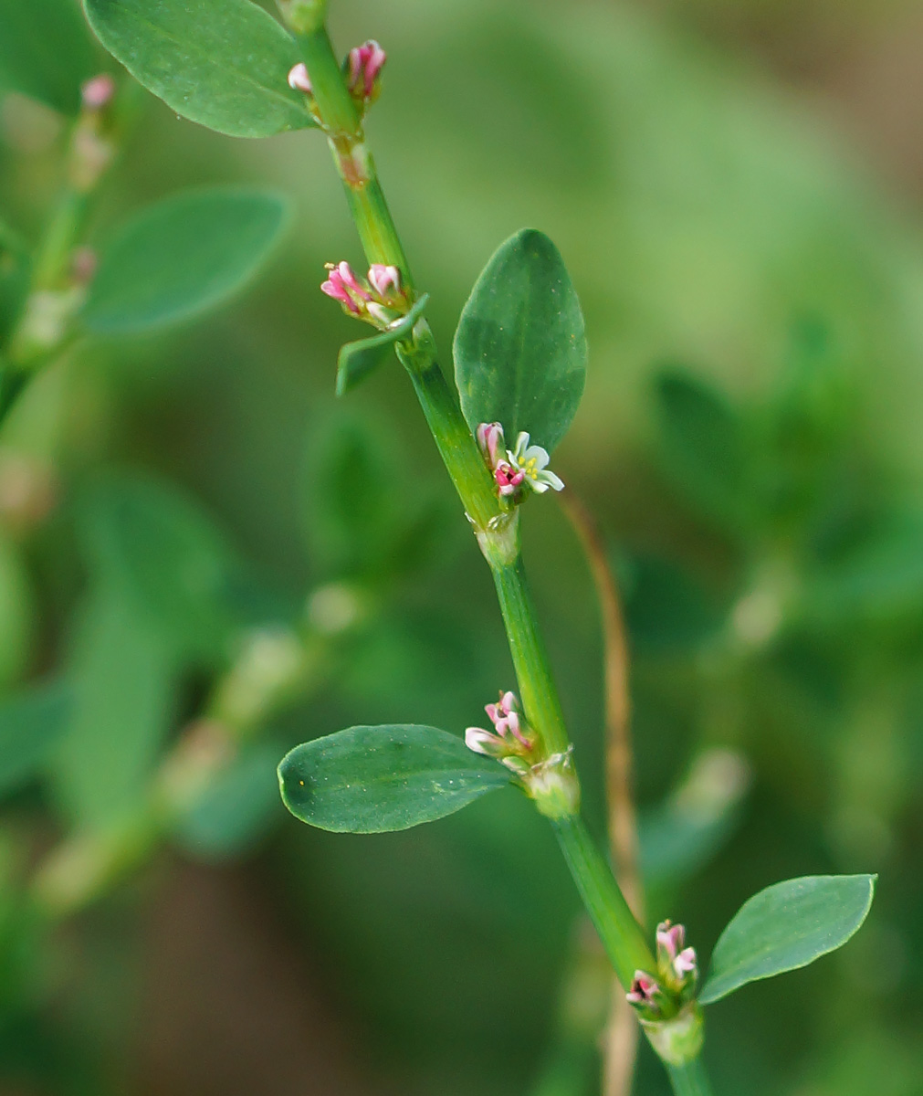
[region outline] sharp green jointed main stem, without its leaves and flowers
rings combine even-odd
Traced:
[[[410,285],[407,256],[385,202],[375,164],[365,147],[355,102],[345,85],[326,28],[296,34],[301,47],[317,113],[322,119],[353,219],[369,263],[398,266]],[[440,454],[475,527],[497,586],[523,711],[547,757],[569,749],[561,705],[528,593],[519,545],[516,514],[501,509],[493,483],[458,398],[436,363],[435,344],[425,321],[413,339],[397,346]],[[565,859],[615,972],[627,989],[635,971],[657,963],[628,903],[579,814],[551,821]],[[673,1068],[671,1068],[673,1070]],[[674,1070],[680,1082],[700,1071]],[[671,1072],[671,1080],[673,1078]],[[674,1081],[674,1087],[676,1085]],[[696,1096],[707,1088],[676,1089]]]

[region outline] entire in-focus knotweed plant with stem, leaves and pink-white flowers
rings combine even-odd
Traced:
[[[201,71],[190,70],[189,53],[170,45],[190,34],[182,4],[162,5],[157,42],[139,49],[133,36],[153,35],[146,23],[119,23],[121,5],[113,0],[84,3],[103,43],[179,113],[239,136],[309,127],[323,133],[368,274],[360,277],[341,262],[329,267],[322,288],[349,316],[375,328],[341,352],[338,389],[363,380],[394,350],[497,589],[519,699],[506,692],[488,706],[493,730],[469,728],[467,745],[456,733],[412,724],[351,728],[315,739],[281,763],[283,799],[311,824],[377,832],[441,818],[504,784],[522,788],[550,820],[615,973],[675,1092],[707,1093],[699,1057],[702,1005],[840,946],[862,923],[873,880],[816,877],[755,895],[719,939],[710,975],[698,991],[695,952],[682,927],[664,922],[654,955],[581,820],[573,747],[521,559],[517,505],[533,493],[563,488],[548,468],[549,455],[570,426],[583,390],[583,318],[560,254],[532,229],[495,252],[462,313],[453,384],[437,362],[426,298],[414,287],[365,140],[364,119],[380,91],[384,49],[369,41],[341,64],[326,28],[326,0],[277,0],[286,30],[249,0],[228,0],[232,26],[221,4],[202,13],[202,22],[212,21],[210,38],[227,56],[209,57]],[[246,64],[253,64],[253,79],[241,88]],[[515,438],[512,448],[508,437]]]

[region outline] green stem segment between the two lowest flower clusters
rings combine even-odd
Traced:
[[[557,819],[551,825],[616,977],[628,990],[636,970],[657,970],[643,933],[582,819]]]

